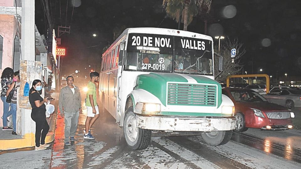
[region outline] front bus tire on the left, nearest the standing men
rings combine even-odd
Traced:
[[[143,150],[150,145],[151,130],[140,129],[136,126],[136,115],[133,107],[126,110],[123,131],[126,144],[131,149]]]

